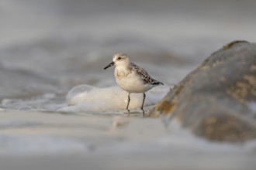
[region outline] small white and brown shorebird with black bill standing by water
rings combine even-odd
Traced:
[[[119,87],[128,92],[128,103],[126,106],[126,110],[128,110],[128,112],[130,112],[128,109],[130,104],[130,93],[143,93],[144,98],[140,107],[140,109],[143,110],[144,100],[146,98],[145,92],[150,90],[152,87],[164,85],[164,83],[154,80],[150,75],[148,75],[147,71],[140,66],[137,66],[135,63],[130,63],[130,59],[126,54],[115,54],[113,56],[112,63],[109,63],[104,70],[113,65],[116,66],[114,73],[116,83]]]

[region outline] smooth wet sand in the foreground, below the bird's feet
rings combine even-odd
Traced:
[[[177,138],[161,118],[143,118],[138,112],[126,117],[1,110],[0,120],[0,135],[16,141],[5,147],[1,141],[1,169],[238,170],[256,165],[255,153],[244,149],[214,151],[182,141],[156,145],[158,139]]]

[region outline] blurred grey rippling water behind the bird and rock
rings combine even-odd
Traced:
[[[255,42],[255,8],[254,0],[1,0],[2,107],[63,103],[81,83],[114,86],[102,68],[120,52],[177,83],[227,42]],[[32,97],[40,104],[16,103]]]

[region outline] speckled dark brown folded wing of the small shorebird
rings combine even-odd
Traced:
[[[130,69],[135,70],[137,72],[137,74],[139,74],[141,76],[142,81],[147,84],[151,84],[151,85],[164,85],[164,83],[161,83],[157,80],[154,80],[148,73],[146,70],[144,70],[143,68],[141,68],[140,66],[137,66],[135,63],[130,63]]]

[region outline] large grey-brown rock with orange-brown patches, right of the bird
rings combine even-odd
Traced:
[[[151,111],[210,141],[256,138],[256,44],[230,42],[204,60]]]

